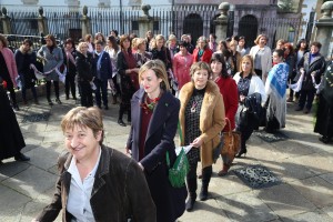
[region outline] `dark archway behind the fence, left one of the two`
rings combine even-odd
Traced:
[[[185,17],[183,23],[183,33],[191,33],[192,43],[203,34],[203,20],[200,14],[190,13]]]

